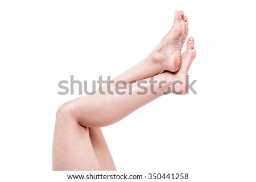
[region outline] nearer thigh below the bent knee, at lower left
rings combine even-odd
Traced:
[[[71,118],[57,117],[52,152],[53,170],[101,170],[89,128]]]

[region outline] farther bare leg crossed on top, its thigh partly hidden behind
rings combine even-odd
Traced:
[[[175,11],[174,26],[163,38],[160,44],[156,46],[156,48],[146,58],[144,58],[144,60],[134,67],[131,67],[131,69],[125,71],[125,73],[114,78],[114,83],[119,80],[122,80],[125,83],[130,83],[151,77],[163,70],[176,71],[179,69],[181,64],[181,48],[188,34],[187,20],[188,18],[187,16],[184,16],[183,11]],[[185,53],[183,53],[182,57],[184,57]],[[106,85],[103,89],[106,90]],[[114,162],[110,151],[108,150],[108,145],[102,135],[101,129],[94,129],[93,134],[95,135],[93,138],[97,138],[97,143],[94,143],[94,139],[92,139],[92,137],[91,142],[101,166],[105,166],[106,162],[108,162],[107,164],[109,166],[106,167],[106,169],[114,170]],[[102,151],[104,151],[104,153],[102,153]],[[102,167],[102,170],[104,170],[104,168],[105,167]]]

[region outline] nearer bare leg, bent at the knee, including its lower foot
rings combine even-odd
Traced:
[[[176,80],[184,81],[189,66],[195,58],[193,39],[189,42],[180,70],[176,73],[164,72],[154,77],[154,80],[158,83],[167,81],[162,84],[162,87],[159,87],[159,84],[154,84],[154,87],[151,88],[148,84],[150,78],[148,78],[144,80],[147,81],[144,87],[148,89],[148,92],[144,95],[138,95],[137,92],[143,92],[144,90],[136,84],[130,83],[127,85],[133,88],[131,95],[118,95],[117,93],[100,95],[97,93],[63,104],[56,116],[53,137],[53,170],[102,170],[108,166],[101,167],[101,154],[93,149],[90,139],[92,136],[89,134],[88,127],[98,128],[113,124],[142,107],[142,105],[163,95],[163,92],[167,91],[167,87],[172,82]],[[180,86],[178,89],[184,90],[184,87]],[[156,94],[151,94],[151,90],[156,91]],[[129,88],[124,88],[121,91],[129,93]],[[95,143],[97,142],[94,142],[94,145]],[[97,149],[97,146],[94,147]]]

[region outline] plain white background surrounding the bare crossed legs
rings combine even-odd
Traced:
[[[189,75],[198,95],[163,96],[103,128],[118,172],[255,181],[252,2],[1,1],[0,181],[75,173],[51,171],[56,109],[79,96],[57,95],[58,82],[122,73],[159,43],[174,10],[195,37]]]

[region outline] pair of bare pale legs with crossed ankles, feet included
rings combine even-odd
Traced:
[[[109,89],[113,94],[102,95],[96,91],[94,95],[82,96],[59,107],[53,136],[53,170],[116,170],[101,127],[122,120],[164,94],[173,93],[174,81],[185,82],[196,56],[193,37],[188,39],[187,50],[181,54],[187,35],[187,16],[183,11],[175,11],[174,26],[159,45],[144,60],[113,79],[114,83],[125,82],[126,88],[119,89],[125,94],[115,92],[112,84]],[[165,82],[152,87],[148,82],[151,77],[157,83]],[[139,81],[144,81],[146,94],[138,94],[144,91],[136,84]],[[183,94],[185,89],[185,84],[175,87],[176,92]],[[107,86],[102,90],[106,91]]]

